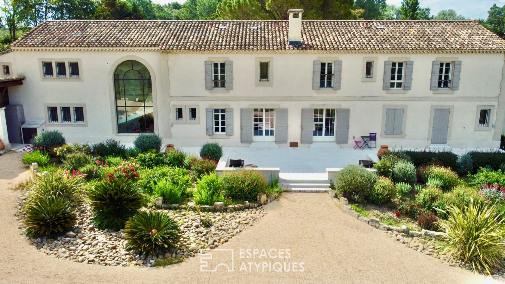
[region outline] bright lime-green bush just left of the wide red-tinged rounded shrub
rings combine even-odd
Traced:
[[[196,184],[193,199],[200,205],[214,205],[224,202],[222,194],[223,181],[215,173],[202,176]]]

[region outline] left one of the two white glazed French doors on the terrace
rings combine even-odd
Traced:
[[[253,109],[253,141],[275,141],[275,109]]]

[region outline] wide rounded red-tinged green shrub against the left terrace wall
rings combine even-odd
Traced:
[[[258,194],[267,189],[267,180],[255,170],[231,170],[220,175],[226,198],[235,200],[257,200]]]

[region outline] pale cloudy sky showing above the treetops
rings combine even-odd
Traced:
[[[184,3],[185,0],[153,0],[154,3],[166,4],[173,1]],[[401,5],[402,0],[386,0],[387,4]],[[486,19],[487,11],[496,3],[503,7],[505,0],[419,0],[420,7],[431,9],[431,14],[436,15],[440,10],[455,10],[459,15],[470,19]]]

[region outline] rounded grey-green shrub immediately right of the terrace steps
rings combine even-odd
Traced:
[[[339,195],[358,202],[367,200],[377,175],[364,167],[350,165],[343,168],[335,178],[335,187]]]

